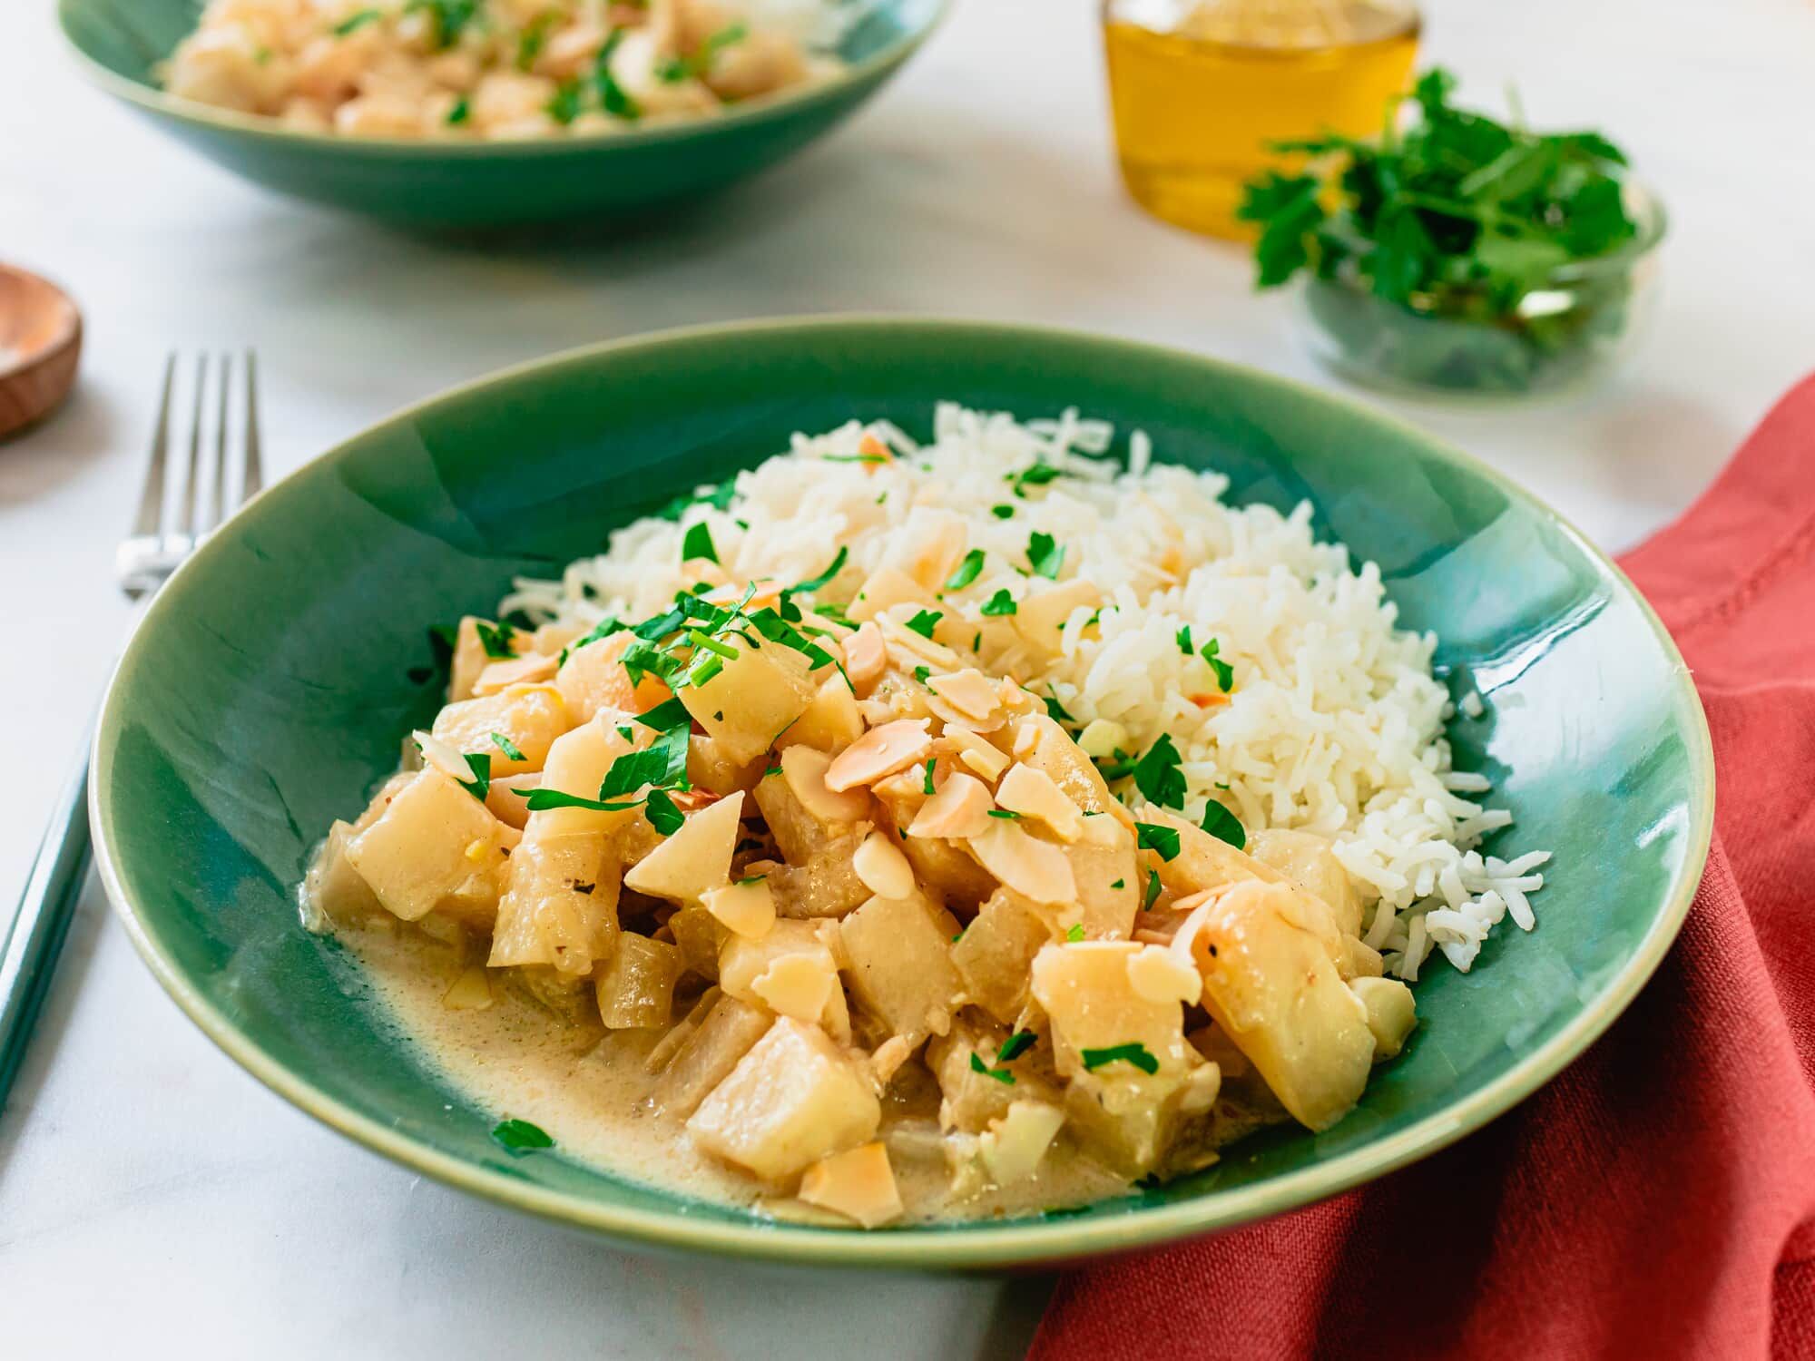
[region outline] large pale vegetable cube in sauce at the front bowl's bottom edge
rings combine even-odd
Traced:
[[[780,1016],[686,1121],[706,1152],[782,1183],[875,1138],[882,1107],[817,1025]]]

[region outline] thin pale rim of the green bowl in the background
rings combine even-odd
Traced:
[[[844,94],[848,87],[858,85],[871,76],[880,76],[891,67],[900,65],[913,56],[915,49],[933,36],[933,33],[951,16],[953,5],[957,5],[957,0],[926,0],[926,4],[933,5],[933,13],[924,24],[908,29],[888,45],[866,56],[862,62],[846,64],[829,80],[795,91],[782,91],[779,94],[748,100],[733,105],[728,113],[715,114],[711,118],[677,118],[673,122],[635,127],[628,132],[570,132],[557,138],[548,136],[506,142],[477,142],[454,138],[368,138],[310,132],[307,129],[285,127],[276,118],[243,114],[232,109],[216,109],[214,105],[201,103],[198,100],[183,100],[174,94],[167,94],[143,80],[122,76],[118,71],[103,65],[83,51],[82,44],[76,42],[74,34],[69,31],[69,16],[78,2],[80,0],[56,0],[56,29],[64,38],[65,51],[76,60],[76,65],[82,67],[87,80],[114,98],[136,103],[140,109],[147,109],[178,122],[196,123],[220,132],[240,132],[269,142],[310,145],[352,156],[396,156],[405,160],[434,156],[517,160],[526,156],[554,156],[572,151],[592,151],[597,147],[643,147],[786,118],[800,109],[829,103]]]

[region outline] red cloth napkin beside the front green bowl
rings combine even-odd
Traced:
[[[1657,976],[1423,1163],[1069,1276],[1033,1361],[1815,1357],[1815,377],[1624,566],[1721,789]]]

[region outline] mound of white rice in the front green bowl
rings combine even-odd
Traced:
[[[1216,795],[1251,831],[1334,838],[1372,900],[1365,940],[1401,978],[1418,978],[1432,949],[1467,971],[1505,916],[1532,929],[1530,895],[1545,882],[1535,871],[1550,857],[1506,862],[1474,849],[1512,815],[1476,802],[1485,777],[1450,769],[1443,728],[1452,706],[1430,671],[1436,637],[1394,626],[1379,568],[1356,570],[1347,548],[1318,543],[1309,504],[1290,515],[1225,504],[1225,477],[1154,463],[1143,432],[1131,436],[1123,470],[1104,457],[1111,426],[1074,410],[1020,423],[940,403],[933,428],[926,446],[888,423],[797,434],[790,454],[737,475],[728,510],[695,504],[679,523],[637,521],[559,583],[519,581],[503,608],[583,624],[608,613],[643,619],[702,573],[793,583],[820,573],[840,546],[849,563],[826,595],[848,599],[891,552],[955,512],[986,563],[942,608],[980,619],[998,590],[1025,595],[1015,566],[1040,530],[1065,548],[1062,579],[1082,575],[1102,590],[1096,637],[1085,630],[1091,610],[1078,608],[1056,661],[986,644],[987,668],[1055,695],[1078,722],[1120,722],[1129,751],[1171,733],[1194,818]],[[853,459],[866,432],[897,461],[837,461]],[[1015,495],[1011,479],[1036,461],[1074,475]],[[991,506],[1000,504],[1015,514],[998,519]],[[701,561],[681,564],[681,537],[699,521],[722,575]],[[1191,700],[1212,695],[1216,680],[1196,651],[1180,650],[1187,624],[1196,648],[1216,639],[1234,668],[1227,704]],[[1470,700],[1474,711],[1481,700]]]

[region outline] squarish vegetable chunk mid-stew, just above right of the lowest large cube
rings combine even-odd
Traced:
[[[944,1034],[957,1007],[949,916],[920,896],[871,898],[839,922],[851,991],[893,1034]]]

